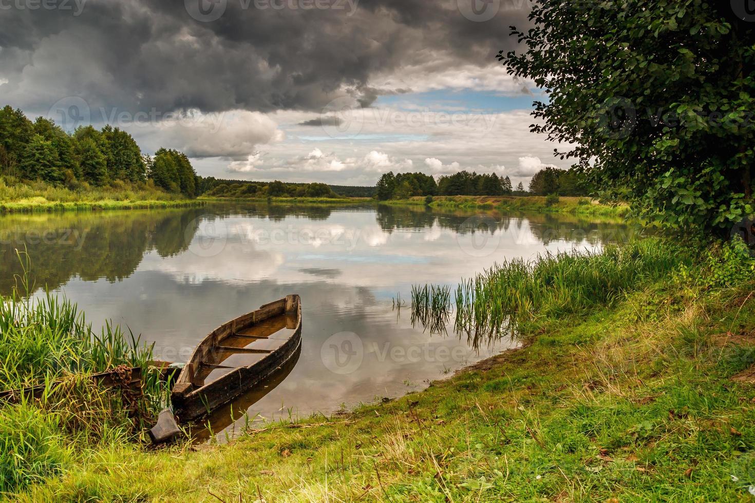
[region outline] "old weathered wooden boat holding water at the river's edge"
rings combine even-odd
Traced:
[[[297,295],[221,325],[199,343],[173,386],[177,422],[196,421],[254,388],[297,355],[300,346]]]

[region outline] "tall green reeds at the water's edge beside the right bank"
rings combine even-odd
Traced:
[[[475,341],[535,330],[548,320],[611,305],[691,264],[688,250],[658,238],[609,245],[595,253],[574,250],[513,259],[458,286],[455,327]]]

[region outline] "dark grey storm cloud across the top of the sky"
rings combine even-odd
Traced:
[[[93,120],[116,109],[321,111],[344,95],[369,106],[384,93],[370,85],[378,73],[400,75],[434,59],[495,65],[498,50],[516,43],[508,26],[524,26],[529,12],[525,0],[503,0],[496,17],[474,22],[457,0],[355,2],[60,0],[59,8],[36,9],[23,8],[30,0],[6,2],[0,83],[8,83],[0,95],[29,112],[85,97]],[[223,8],[217,20],[196,19],[212,8]]]

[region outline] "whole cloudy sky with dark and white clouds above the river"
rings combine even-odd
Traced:
[[[0,102],[112,124],[217,178],[524,182],[558,144],[495,58],[529,0],[0,0]]]

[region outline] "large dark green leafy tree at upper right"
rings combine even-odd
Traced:
[[[547,90],[532,130],[596,189],[688,235],[753,212],[755,30],[735,3],[534,0],[529,18],[498,57]]]

